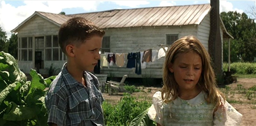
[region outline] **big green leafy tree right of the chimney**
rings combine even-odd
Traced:
[[[221,12],[220,17],[227,31],[234,37],[231,40],[231,62],[253,62],[256,54],[256,24],[245,13],[236,11]],[[223,46],[223,53],[227,53],[227,46]],[[224,55],[225,56],[225,55]],[[224,57],[225,58],[225,57]],[[224,59],[226,61],[227,59]]]

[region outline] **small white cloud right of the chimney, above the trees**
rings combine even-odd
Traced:
[[[228,2],[227,0],[220,0],[220,12],[228,12],[228,11],[237,11],[239,13],[243,13],[244,11],[241,9],[233,8],[233,4]]]

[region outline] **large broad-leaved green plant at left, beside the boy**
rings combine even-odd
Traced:
[[[0,52],[0,125],[47,125],[44,79],[31,69],[31,81],[20,71],[13,56]]]

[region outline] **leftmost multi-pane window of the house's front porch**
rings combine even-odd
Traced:
[[[19,61],[32,61],[32,37],[18,39]]]

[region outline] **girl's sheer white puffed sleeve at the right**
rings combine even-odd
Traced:
[[[221,96],[221,104],[217,111],[214,113],[213,122],[214,125],[240,125],[242,121],[242,114],[239,113],[233,106],[231,106]]]

